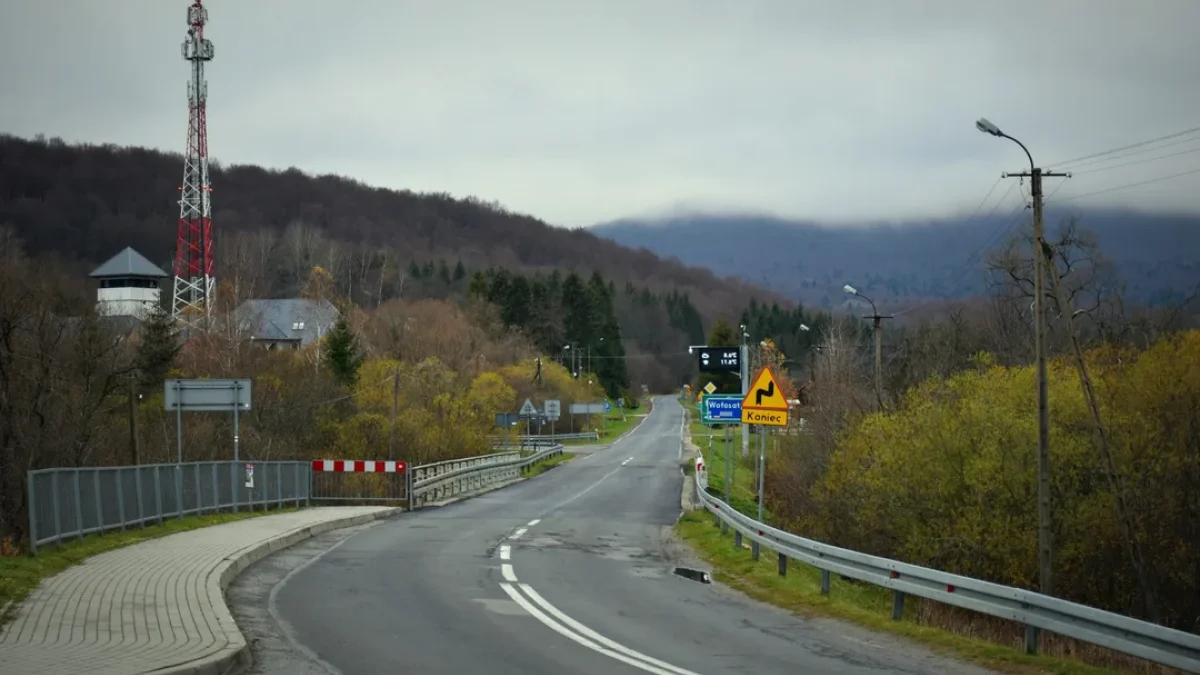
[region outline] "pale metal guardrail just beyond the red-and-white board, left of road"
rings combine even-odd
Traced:
[[[554,444],[528,456],[521,456],[520,452],[494,453],[414,466],[409,508],[420,508],[430,502],[475,492],[503,480],[520,478],[521,472],[529,466],[560,454],[563,446]]]

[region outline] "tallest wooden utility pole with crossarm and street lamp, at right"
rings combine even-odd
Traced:
[[[1045,257],[1043,251],[1046,247],[1044,227],[1042,222],[1042,179],[1045,177],[1069,178],[1067,173],[1052,173],[1038,168],[1033,161],[1033,155],[1024,143],[1002,132],[995,124],[980,118],[976,123],[976,129],[997,138],[1008,138],[1021,147],[1025,156],[1030,160],[1030,171],[1020,173],[1003,173],[1004,178],[1030,179],[1033,193],[1033,352],[1037,363],[1038,378],[1038,590],[1043,595],[1051,595],[1054,590],[1052,579],[1052,521],[1050,504],[1050,405],[1046,384],[1046,353],[1045,353],[1045,288],[1044,268]],[[1030,637],[1026,637],[1028,647]]]

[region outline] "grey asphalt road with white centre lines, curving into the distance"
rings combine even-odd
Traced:
[[[670,533],[682,424],[660,398],[624,438],[535,479],[257,563],[230,590],[253,671],[988,673],[673,574],[698,566]]]

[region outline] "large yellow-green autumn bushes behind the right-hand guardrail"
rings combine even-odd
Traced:
[[[1200,616],[1200,331],[1087,354],[1162,620]],[[911,389],[846,430],[793,530],[1003,584],[1037,583],[1032,368]],[[1055,595],[1141,615],[1096,426],[1070,362],[1049,369]]]

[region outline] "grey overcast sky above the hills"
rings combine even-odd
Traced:
[[[936,217],[1027,166],[980,115],[1042,165],[1200,126],[1196,0],[204,4],[212,157],[564,226]],[[0,0],[0,132],[182,151],[186,7]],[[1200,133],[1169,143],[1080,166],[1054,198],[1200,169]],[[1198,189],[1074,203],[1200,210]]]

